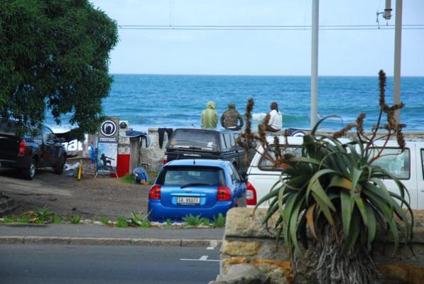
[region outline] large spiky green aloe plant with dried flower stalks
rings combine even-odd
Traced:
[[[274,155],[267,151],[263,154],[276,167],[286,164],[281,170],[281,182],[257,205],[270,202],[263,222],[268,224],[277,214],[277,243],[283,237],[294,268],[298,257],[305,253],[303,258],[315,268],[315,283],[376,283],[378,274],[371,253],[376,232],[381,229],[392,237],[394,251],[412,239],[408,190],[401,180],[374,164],[391,137],[397,138],[401,149],[405,146],[404,125],[394,119],[394,112],[403,104],[388,107],[384,101],[386,76],[383,71],[379,75],[380,113],[371,134],[364,133],[365,114],[361,114],[334,136],[318,135],[318,126],[326,117],[303,137],[300,156],[285,153],[278,143]],[[253,108],[253,102],[250,104],[248,110]],[[384,114],[387,124],[382,121]],[[259,136],[247,131],[242,137],[256,138],[268,149],[263,127],[259,126]],[[337,139],[352,129],[356,129],[356,138],[347,143]],[[377,140],[383,141],[378,149]],[[398,191],[389,191],[384,178],[393,180]]]

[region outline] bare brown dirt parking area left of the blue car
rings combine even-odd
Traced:
[[[33,180],[23,180],[16,170],[0,168],[0,192],[15,200],[14,215],[45,206],[61,217],[87,219],[146,213],[148,187],[109,177],[77,180],[47,168],[38,169]]]

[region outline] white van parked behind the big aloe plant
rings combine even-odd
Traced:
[[[283,147],[284,138],[281,136],[280,146]],[[273,136],[268,136],[267,141],[273,147]],[[288,137],[288,151],[293,151],[300,155],[300,144],[302,137]],[[381,144],[376,144],[381,146]],[[273,164],[262,157],[263,148],[259,146],[259,153],[254,155],[247,170],[247,204],[254,206],[265,196],[273,185],[281,178],[281,170],[273,169]],[[389,141],[384,149],[386,155],[374,162],[381,168],[399,178],[409,191],[411,196],[412,209],[424,209],[424,141],[408,141],[406,149],[401,153],[396,141]],[[384,183],[388,190],[397,191],[393,180],[386,179]],[[261,204],[261,207],[268,207],[268,202]]]

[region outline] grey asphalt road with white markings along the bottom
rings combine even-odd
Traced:
[[[208,283],[219,247],[0,245],[1,283]]]

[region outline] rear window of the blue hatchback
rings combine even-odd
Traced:
[[[158,178],[159,185],[224,185],[221,168],[166,167]]]

